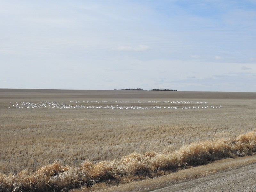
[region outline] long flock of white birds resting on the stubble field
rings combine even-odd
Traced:
[[[147,106],[143,103],[147,103]],[[150,106],[149,104],[153,104]],[[92,105],[91,105],[92,104]],[[98,104],[98,105],[93,105]],[[101,104],[99,106],[99,104]],[[118,105],[117,105],[118,104]],[[176,104],[176,106],[173,106]],[[205,101],[69,101],[69,104],[65,102],[57,101],[41,101],[39,103],[33,102],[11,102],[11,106],[8,108],[86,108],[86,109],[207,109],[207,108],[221,108],[222,106],[208,106],[208,102]],[[104,106],[102,106],[104,105]],[[179,105],[179,106],[178,106]]]

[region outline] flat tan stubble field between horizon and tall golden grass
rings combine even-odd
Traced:
[[[0,172],[235,142],[256,132],[255,109],[256,93],[0,89]]]

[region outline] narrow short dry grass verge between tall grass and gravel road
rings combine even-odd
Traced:
[[[146,180],[133,181],[127,184],[118,186],[106,186],[104,183],[95,184],[92,187],[94,192],[135,192],[135,191],[152,191],[166,186],[171,186],[177,183],[194,180],[197,178],[209,176],[212,174],[231,171],[249,164],[256,163],[256,156],[246,156],[237,158],[222,159],[210,164],[182,169],[178,172],[173,172],[164,176],[150,178]],[[86,192],[88,188],[74,189],[73,192]]]

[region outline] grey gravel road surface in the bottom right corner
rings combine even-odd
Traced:
[[[256,164],[179,183],[153,192],[256,192]]]

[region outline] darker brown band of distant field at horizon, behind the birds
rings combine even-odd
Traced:
[[[0,89],[0,99],[255,99],[250,92]]]

